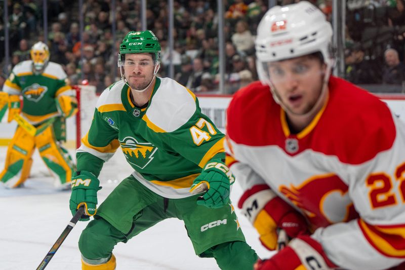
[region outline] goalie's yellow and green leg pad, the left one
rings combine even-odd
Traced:
[[[34,137],[17,127],[7,149],[5,168],[0,173],[0,181],[7,187],[17,187],[28,178],[34,146]]]

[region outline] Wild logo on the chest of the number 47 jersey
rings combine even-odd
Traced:
[[[149,142],[138,142],[133,137],[119,140],[127,161],[141,169],[145,168],[152,160],[157,147]]]

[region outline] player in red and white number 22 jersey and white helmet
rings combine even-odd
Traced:
[[[302,1],[273,7],[256,39],[261,82],[227,111],[238,206],[275,249],[255,269],[405,269],[405,125],[331,76],[332,27]]]

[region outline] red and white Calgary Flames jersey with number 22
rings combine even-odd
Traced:
[[[336,265],[386,269],[405,260],[405,125],[384,102],[331,77],[327,103],[291,134],[269,87],[255,82],[234,95],[227,117],[236,182],[265,184],[301,212]]]

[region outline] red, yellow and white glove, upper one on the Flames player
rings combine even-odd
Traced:
[[[247,190],[240,198],[238,207],[257,229],[260,241],[269,250],[277,248],[279,229],[283,229],[290,239],[308,234],[304,216],[277,197],[265,184]]]

